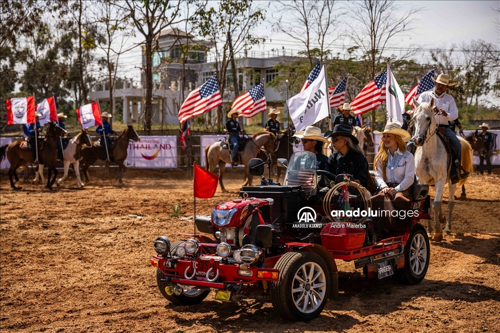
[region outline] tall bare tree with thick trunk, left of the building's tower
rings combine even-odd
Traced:
[[[144,36],[145,66],[143,68],[146,84],[146,98],[144,105],[145,129],[151,133],[151,109],[152,109],[152,50],[155,38],[164,28],[179,23],[179,10],[181,0],[125,0],[128,7],[128,15],[133,21],[135,28]]]

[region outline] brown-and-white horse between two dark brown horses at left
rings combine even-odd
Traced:
[[[69,164],[73,165],[74,173],[76,174],[76,179],[78,181],[78,186],[83,187],[83,183],[80,179],[80,152],[83,146],[91,146],[92,140],[90,139],[90,135],[88,135],[86,130],[81,130],[74,138],[71,138],[63,150],[64,154],[64,176],[57,180],[56,185],[59,186],[64,179],[67,177],[67,173],[69,170]],[[43,165],[38,165],[38,171],[35,172],[35,178],[33,182],[38,182],[38,175],[42,183],[45,182],[43,178]]]

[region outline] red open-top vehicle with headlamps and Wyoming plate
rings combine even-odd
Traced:
[[[250,161],[250,174],[262,175],[266,163]],[[212,238],[186,235],[191,239],[170,244],[158,237],[151,265],[160,293],[172,303],[195,305],[211,290],[220,301],[263,290],[281,317],[309,321],[338,296],[335,259],[353,261],[366,279],[422,281],[430,253],[418,221],[430,219],[428,185],[412,186],[417,214],[405,230],[375,233],[369,218],[355,216],[359,208],[369,210],[369,193],[349,175],[316,171],[315,165],[314,154],[297,152],[283,185],[262,177],[261,185],[243,187],[240,198],[216,205],[211,216],[197,217],[197,230]],[[344,216],[333,217],[335,209]]]

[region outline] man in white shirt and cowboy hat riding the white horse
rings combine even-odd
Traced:
[[[463,170],[460,165],[462,157],[462,146],[460,141],[456,137],[456,134],[449,128],[448,121],[452,121],[458,118],[458,109],[456,108],[455,100],[451,95],[445,93],[448,86],[454,85],[454,83],[449,83],[449,77],[446,74],[439,74],[437,79],[432,80],[435,82],[434,90],[425,91],[418,97],[418,102],[428,103],[432,98],[434,98],[434,108],[435,119],[438,127],[444,129],[444,135],[449,139],[453,149],[455,150],[455,156],[453,156],[453,166],[450,171],[451,183],[455,184],[459,181],[456,177],[456,169],[459,170],[459,178],[463,179],[469,175],[469,172]]]

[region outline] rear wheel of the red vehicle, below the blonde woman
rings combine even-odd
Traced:
[[[429,259],[430,247],[427,232],[421,224],[416,224],[411,229],[404,246],[404,268],[394,272],[394,279],[400,284],[419,284],[427,274]]]

